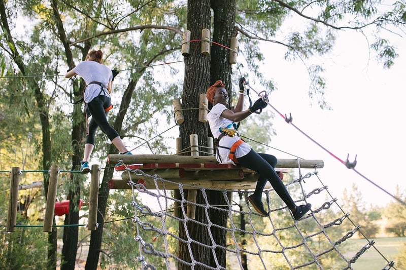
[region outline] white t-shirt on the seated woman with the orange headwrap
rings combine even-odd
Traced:
[[[218,138],[220,136],[220,134],[221,134],[221,132],[219,130],[220,128],[226,128],[230,124],[231,124],[230,128],[234,128],[232,126],[233,122],[231,120],[228,120],[221,116],[221,113],[223,113],[223,111],[225,109],[227,109],[226,106],[224,106],[223,104],[217,103],[216,105],[213,106],[211,111],[207,114],[207,120],[209,121],[210,130],[212,131],[212,134],[215,138]],[[235,134],[234,137],[224,136],[223,138],[221,138],[219,145],[225,146],[225,147],[231,147],[234,144],[234,142],[236,142],[240,139],[241,139],[240,136],[238,136],[237,134]],[[235,150],[235,154],[234,154],[235,158],[244,157],[245,155],[247,155],[247,153],[249,151],[251,151],[251,145],[244,142]],[[222,164],[234,164],[234,162],[228,158],[229,153],[230,153],[229,149],[219,147],[217,154],[216,154],[217,161]]]

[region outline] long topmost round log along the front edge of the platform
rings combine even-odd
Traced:
[[[182,163],[182,164],[218,164],[215,157],[207,156],[175,156],[175,155],[109,155],[109,164],[118,164],[122,161],[124,164],[158,164],[158,163]],[[300,168],[314,169],[323,168],[322,160],[299,160]],[[276,168],[298,168],[296,159],[279,159]]]

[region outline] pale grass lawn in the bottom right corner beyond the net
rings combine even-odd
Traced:
[[[400,253],[400,250],[404,248],[406,243],[405,237],[392,237],[392,238],[374,238],[369,239],[374,240],[374,246],[371,246],[366,250],[355,263],[351,264],[355,270],[364,270],[364,269],[383,269],[387,262],[381,256],[380,253],[388,260],[394,261],[394,266],[396,267],[395,256]],[[347,247],[350,252],[346,252],[344,255],[348,260],[351,260],[352,257],[368,242],[365,239],[350,239],[347,240]],[[374,247],[376,249],[374,249]]]

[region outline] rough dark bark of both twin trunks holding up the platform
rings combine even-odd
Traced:
[[[188,30],[191,31],[191,40],[201,38],[201,29],[209,28],[210,25],[210,6],[209,2],[188,1]],[[211,7],[214,11],[214,42],[229,47],[230,38],[234,32],[235,1],[211,1]],[[210,28],[209,28],[210,29]],[[200,53],[200,43],[192,43],[190,54],[185,57],[185,80],[182,94],[182,108],[197,108],[198,96],[206,93],[207,88],[217,80],[222,80],[227,90],[231,90],[231,65],[228,61],[229,50],[218,45],[212,45],[210,59],[208,56]],[[210,65],[210,68],[207,66]],[[183,148],[190,146],[189,135],[198,134],[199,145],[207,145],[208,125],[198,122],[197,110],[184,111],[185,122],[180,126],[180,136],[182,137]],[[211,205],[225,205],[224,195],[219,191],[207,191],[207,200]],[[187,194],[184,195],[187,198]],[[230,195],[228,195],[230,196]],[[196,203],[206,204],[205,198],[201,192],[197,192]],[[207,224],[208,219],[214,224],[226,227],[226,212],[209,209],[209,216],[206,216],[205,210],[196,207],[195,219]],[[200,226],[194,222],[188,221],[186,228],[183,222],[179,224],[179,237],[186,240],[186,229],[191,239],[206,244],[213,245],[210,234],[217,245],[226,246],[225,230],[211,227],[210,232],[206,226]],[[212,267],[226,265],[226,253],[223,249],[215,249],[213,254],[211,249],[202,245],[191,244],[191,253],[186,244],[179,242],[179,257],[187,262],[195,261],[210,265]],[[217,263],[216,263],[217,260]],[[195,269],[204,268],[199,265]],[[179,263],[178,269],[189,269],[186,264]]]

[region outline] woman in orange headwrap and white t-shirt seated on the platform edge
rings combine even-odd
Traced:
[[[223,164],[238,164],[253,171],[258,172],[258,182],[255,191],[248,197],[248,200],[255,210],[263,217],[268,216],[262,203],[262,191],[266,181],[274,187],[275,191],[288,206],[295,220],[299,220],[306,214],[311,204],[296,206],[288,190],[283,184],[281,178],[275,171],[277,158],[272,155],[255,152],[252,147],[244,142],[236,130],[236,122],[246,119],[254,111],[263,109],[267,103],[259,98],[246,110],[244,107],[244,85],[245,78],[240,79],[240,96],[235,109],[228,109],[228,94],[222,81],[217,81],[209,87],[206,96],[209,102],[213,104],[212,109],[207,115],[210,129],[213,136],[217,139],[216,159]]]

